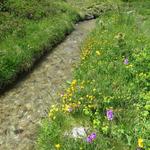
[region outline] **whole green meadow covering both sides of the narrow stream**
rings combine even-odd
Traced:
[[[73,80],[41,121],[37,150],[150,150],[149,8],[149,0],[0,1],[0,90],[76,22],[97,18]]]

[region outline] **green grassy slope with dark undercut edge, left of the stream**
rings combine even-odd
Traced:
[[[73,29],[78,13],[63,0],[0,3],[0,89],[30,69]]]

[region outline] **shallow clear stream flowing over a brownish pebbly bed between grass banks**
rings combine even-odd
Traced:
[[[95,20],[75,25],[75,30],[37,66],[0,95],[0,150],[33,150],[40,120],[57,101],[73,66],[80,61],[80,44]]]

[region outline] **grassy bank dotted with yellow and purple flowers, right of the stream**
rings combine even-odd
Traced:
[[[150,149],[146,3],[125,4],[98,19],[82,47],[74,80],[43,121],[37,149]],[[72,129],[81,126],[86,133],[73,138]]]

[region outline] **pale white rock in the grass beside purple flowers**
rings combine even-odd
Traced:
[[[86,136],[85,128],[83,127],[74,127],[72,129],[72,137],[73,138],[83,138]]]

